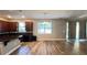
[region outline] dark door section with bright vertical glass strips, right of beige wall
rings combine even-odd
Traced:
[[[66,22],[66,40],[67,39],[86,39],[87,22],[85,21],[68,21]]]

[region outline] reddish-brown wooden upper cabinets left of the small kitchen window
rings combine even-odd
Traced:
[[[17,25],[17,22],[0,21],[0,32],[15,32]]]

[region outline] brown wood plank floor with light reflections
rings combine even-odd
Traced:
[[[19,55],[18,53],[20,51],[24,55],[86,55],[87,54],[87,41],[23,42],[23,45],[21,47],[22,48],[19,48],[14,53],[12,53],[12,55],[13,54]]]

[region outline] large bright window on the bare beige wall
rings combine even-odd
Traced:
[[[37,25],[39,34],[51,34],[52,33],[52,22],[39,22]]]

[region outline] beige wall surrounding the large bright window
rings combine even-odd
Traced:
[[[66,34],[66,22],[64,20],[52,20],[53,31],[52,34],[37,34],[37,23],[41,20],[34,20],[33,24],[33,34],[37,36],[37,39],[65,39]]]

